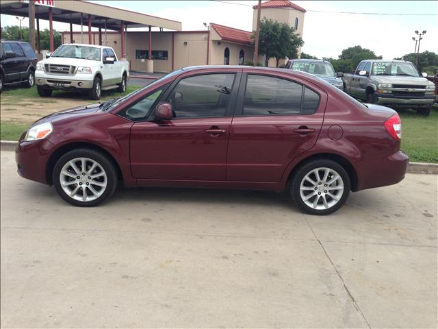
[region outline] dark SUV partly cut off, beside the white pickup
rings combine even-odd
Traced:
[[[35,84],[36,54],[28,42],[1,40],[0,90],[6,84]]]

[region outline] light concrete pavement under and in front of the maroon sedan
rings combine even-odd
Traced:
[[[1,151],[1,326],[436,328],[437,196],[409,174],[329,217],[254,191],[74,208]]]

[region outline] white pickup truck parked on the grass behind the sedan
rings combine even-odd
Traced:
[[[129,63],[118,60],[114,49],[96,45],[65,44],[36,64],[38,94],[49,97],[53,90],[88,92],[101,99],[102,90],[125,92]]]

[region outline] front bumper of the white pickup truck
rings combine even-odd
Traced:
[[[36,71],[35,82],[37,86],[60,90],[90,90],[93,86],[93,80],[90,75],[72,79],[71,75],[48,75],[44,72]]]

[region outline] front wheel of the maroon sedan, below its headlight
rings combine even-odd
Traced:
[[[116,190],[116,169],[111,160],[98,151],[75,149],[56,162],[53,185],[62,199],[70,204],[97,206]]]

